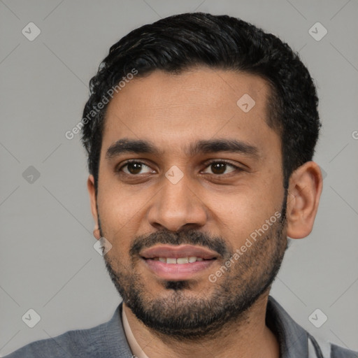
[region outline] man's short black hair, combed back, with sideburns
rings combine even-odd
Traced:
[[[291,173],[312,160],[321,127],[318,99],[299,54],[277,36],[236,17],[183,13],[129,32],[111,46],[90,80],[82,141],[96,189],[110,89],[120,90],[118,84],[134,69],[138,77],[155,70],[181,73],[195,66],[250,73],[268,83],[271,91],[267,123],[280,134],[286,189]],[[103,101],[105,98],[107,101]]]

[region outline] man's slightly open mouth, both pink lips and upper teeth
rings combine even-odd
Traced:
[[[187,280],[202,274],[220,255],[196,245],[155,245],[140,252],[145,266],[164,280]]]

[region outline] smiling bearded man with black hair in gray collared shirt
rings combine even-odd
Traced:
[[[94,236],[123,302],[8,357],[358,357],[269,292],[322,191],[310,74],[272,34],[187,13],[131,31],[83,113]]]

